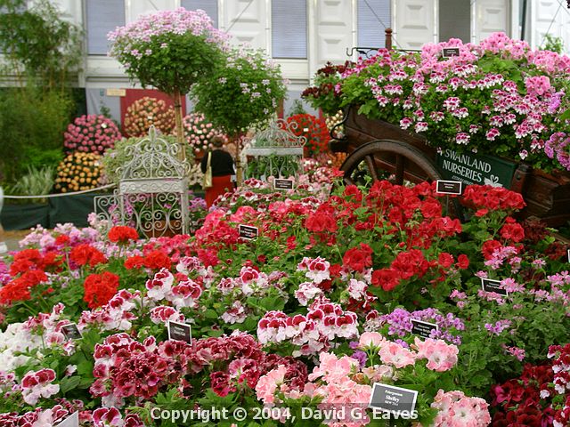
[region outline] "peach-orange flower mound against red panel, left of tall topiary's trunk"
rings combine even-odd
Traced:
[[[170,134],[175,127],[175,109],[164,100],[145,96],[134,101],[126,109],[123,130],[132,137],[149,134],[149,128],[154,125],[161,133]]]

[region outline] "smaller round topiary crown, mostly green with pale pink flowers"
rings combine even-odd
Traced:
[[[264,125],[285,93],[280,68],[268,62],[263,52],[237,49],[224,67],[216,69],[212,80],[192,87],[195,109],[232,136]]]

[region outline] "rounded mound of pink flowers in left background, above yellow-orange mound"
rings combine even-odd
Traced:
[[[115,147],[115,141],[122,138],[117,125],[107,117],[77,117],[63,133],[63,145],[68,151],[94,152],[103,154]]]

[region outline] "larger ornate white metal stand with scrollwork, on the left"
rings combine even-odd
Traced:
[[[179,149],[151,126],[148,137],[126,148],[130,160],[118,168],[115,194],[95,197],[98,217],[119,220],[147,237],[187,233],[189,165],[178,159]]]

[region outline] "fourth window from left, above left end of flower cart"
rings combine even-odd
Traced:
[[[391,28],[390,0],[358,0],[358,45],[384,47],[386,28]]]

